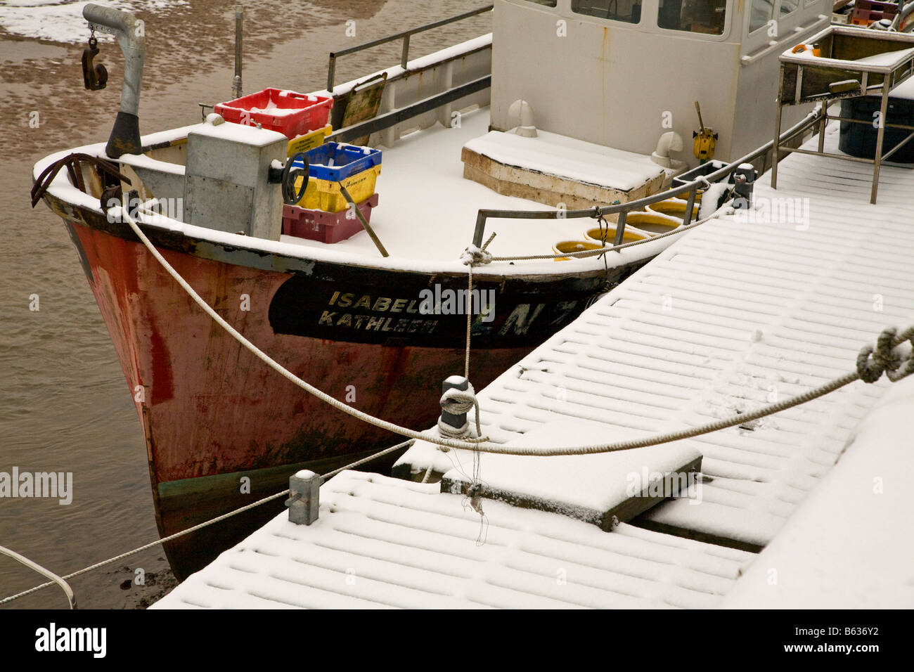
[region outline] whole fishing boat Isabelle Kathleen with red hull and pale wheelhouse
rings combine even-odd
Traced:
[[[124,53],[121,110],[107,143],[35,165],[33,205],[44,200],[64,220],[112,337],[143,427],[160,533],[398,438],[265,368],[199,309],[128,219],[282,367],[360,411],[426,427],[441,410],[425,400],[463,370],[464,348],[473,385],[484,387],[713,212],[717,192],[669,196],[675,180],[734,162],[730,190],[747,187],[771,161],[739,158],[771,139],[778,55],[827,26],[831,6],[496,0],[331,54],[324,91],[264,90],[274,97],[241,108],[275,118],[292,99],[326,101],[322,128],[288,137],[250,114],[226,121],[243,99],[239,72],[234,100],[201,123],[141,137],[154,27],[137,31],[131,14],[86,5],[90,29],[112,33]],[[409,36],[488,11],[492,34],[409,59]],[[392,40],[403,43],[399,65],[335,83],[336,59]],[[90,38],[89,89],[107,79],[98,53]],[[785,108],[779,123],[798,123],[810,107]],[[366,157],[381,146],[384,158],[373,166],[376,194],[359,201],[341,178],[327,193],[352,217],[319,225],[312,214],[304,229],[320,235],[306,237],[294,235],[289,208],[314,186],[316,168],[304,168],[298,149],[315,131]],[[335,240],[335,226],[348,235]],[[260,507],[166,545],[175,573],[274,513]]]

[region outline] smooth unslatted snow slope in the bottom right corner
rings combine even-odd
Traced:
[[[912,409],[914,376],[877,402],[854,443],[722,606],[914,608]]]

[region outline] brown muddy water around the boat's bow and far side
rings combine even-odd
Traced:
[[[250,5],[246,92],[267,86],[321,89],[329,51],[484,2]],[[147,42],[143,133],[195,123],[197,102],[231,97],[232,7],[190,0],[165,13],[137,11]],[[356,22],[355,37],[345,34],[349,20]],[[411,40],[410,57],[490,29],[491,15],[484,15],[430,31]],[[69,505],[49,498],[0,498],[0,545],[61,574],[157,538],[143,437],[114,348],[62,224],[43,204],[29,207],[37,159],[105,140],[118,108],[120,50],[101,44],[98,60],[111,77],[105,91],[83,90],[81,50],[82,45],[11,36],[0,28],[0,472],[11,473],[15,466],[20,472],[72,474]],[[398,61],[399,43],[344,57],[336,80]],[[143,585],[131,581],[137,570]],[[39,582],[32,571],[0,556],[0,597]],[[153,549],[71,584],[80,607],[122,608],[154,601],[174,579],[161,549]],[[64,604],[61,592],[47,589],[7,608]]]

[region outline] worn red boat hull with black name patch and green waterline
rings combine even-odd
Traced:
[[[266,367],[193,303],[126,225],[48,201],[80,254],[133,395],[163,536],[284,489],[298,468],[323,473],[402,441]],[[466,316],[447,314],[441,296],[465,289],[465,273],[285,258],[144,229],[229,324],[354,408],[424,429],[440,413],[441,381],[462,374]],[[474,316],[473,385],[487,385],[646,261],[534,279],[479,277],[494,302]],[[430,314],[421,304],[429,293],[439,301]],[[175,573],[202,567],[281,502],[168,545]]]

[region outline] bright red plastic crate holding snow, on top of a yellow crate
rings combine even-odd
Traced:
[[[279,89],[264,89],[228,102],[220,102],[215,109],[227,122],[279,131],[287,138],[311,133],[327,125],[333,98],[296,93]]]

